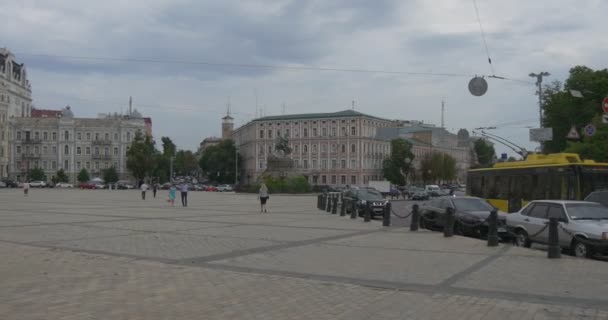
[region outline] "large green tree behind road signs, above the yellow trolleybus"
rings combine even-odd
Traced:
[[[583,97],[574,97],[570,90],[577,90]],[[553,140],[544,144],[544,151],[580,152],[586,159],[606,159],[598,144],[600,137],[605,137],[603,131],[606,125],[599,118],[602,114],[601,101],[608,93],[608,70],[592,70],[585,66],[576,66],[570,69],[568,79],[562,85],[553,82],[543,90],[543,110],[545,113],[543,125],[553,129]],[[599,120],[599,121],[598,121]],[[579,132],[589,123],[596,124],[598,129],[592,138],[583,138],[580,141],[570,142],[566,136],[573,126]],[[593,147],[600,147],[593,152]]]

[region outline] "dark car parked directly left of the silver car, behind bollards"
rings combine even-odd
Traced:
[[[446,223],[447,208],[454,209],[454,233],[476,238],[488,235],[488,217],[496,210],[485,199],[474,197],[443,197],[432,200],[422,207],[420,225],[429,230],[443,230]],[[507,214],[498,212],[498,236],[510,239],[507,231]]]

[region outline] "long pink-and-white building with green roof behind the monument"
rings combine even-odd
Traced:
[[[384,180],[382,161],[390,154],[390,141],[377,137],[377,130],[392,125],[387,119],[354,110],[269,116],[255,119],[234,130],[242,158],[240,182],[256,183],[275,154],[277,137],[287,138],[288,156],[294,168],[312,185],[365,185]]]

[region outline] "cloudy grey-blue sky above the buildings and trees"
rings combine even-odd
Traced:
[[[448,130],[497,126],[534,149],[528,74],[563,81],[573,66],[608,61],[604,0],[0,3],[0,47],[25,63],[37,108],[95,117],[126,111],[132,96],[158,141],[192,150],[221,134],[228,104],[237,126],[353,101],[363,113],[440,125],[442,100]],[[485,95],[469,93],[473,76],[487,80]]]

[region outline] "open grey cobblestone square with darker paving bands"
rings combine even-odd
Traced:
[[[149,195],[151,198],[151,194]],[[608,319],[605,262],[316,210],[316,198],[0,189],[0,319]]]

